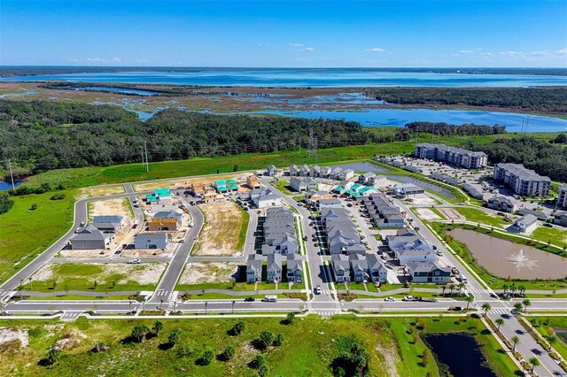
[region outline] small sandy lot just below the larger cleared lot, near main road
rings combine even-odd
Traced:
[[[238,264],[223,263],[188,263],[179,280],[179,284],[203,284],[227,282],[237,278]]]

